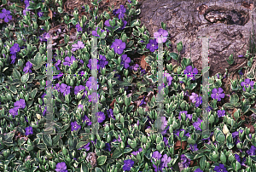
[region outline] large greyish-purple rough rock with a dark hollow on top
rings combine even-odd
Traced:
[[[249,34],[253,28],[252,15],[256,18],[253,3],[233,0],[208,3],[192,0],[145,0],[140,9],[139,19],[142,26],[147,27],[150,37],[154,37],[154,32],[161,28],[161,22],[166,23],[168,37],[171,37],[172,42],[170,52],[177,53],[174,46],[182,41],[182,58],[190,58],[199,73],[202,69],[202,41],[198,37],[215,37],[209,39],[210,77],[218,72],[224,75],[225,68],[230,66],[226,61],[230,54],[234,55],[235,62],[228,72],[247,66],[247,62],[243,63],[247,58],[238,55],[245,55],[247,51]],[[177,65],[176,60],[169,62]]]

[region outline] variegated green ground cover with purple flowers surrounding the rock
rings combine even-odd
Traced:
[[[256,171],[254,37],[240,54],[247,57],[247,67],[230,79],[230,93],[222,89],[228,71],[209,78],[211,135],[201,135],[201,75],[163,39],[166,106],[158,134],[160,41],[137,20],[136,0],[109,8],[112,18],[97,14],[101,1],[92,1],[92,9],[84,5],[83,15],[63,13],[61,0],[1,3],[1,171]],[[53,19],[67,27],[55,32],[59,37],[52,35],[55,130],[47,133],[46,41]],[[71,41],[74,30],[77,37]],[[89,37],[105,37],[97,39],[97,61],[91,60]],[[154,37],[172,36],[161,23]],[[177,43],[177,51],[182,49]],[[172,66],[171,58],[180,66]],[[233,56],[227,60],[232,64]],[[98,84],[93,85],[90,70],[96,62]],[[90,129],[95,96],[99,135]]]

